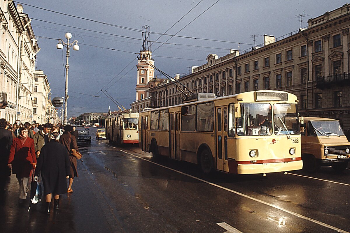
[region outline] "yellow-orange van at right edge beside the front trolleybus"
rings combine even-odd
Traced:
[[[350,143],[338,120],[304,117],[301,124],[303,169],[317,172],[320,166],[332,166],[337,172],[348,167]]]

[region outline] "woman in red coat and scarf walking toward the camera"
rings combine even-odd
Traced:
[[[36,166],[36,156],[34,140],[28,137],[28,128],[22,127],[20,130],[19,137],[13,140],[7,166],[16,174],[20,184],[19,203],[23,204],[29,191],[29,177]]]

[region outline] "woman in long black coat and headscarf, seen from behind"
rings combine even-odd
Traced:
[[[48,213],[50,213],[52,194],[54,194],[55,199],[54,208],[58,209],[59,194],[66,193],[66,179],[68,179],[70,174],[69,153],[58,142],[59,133],[52,132],[49,137],[51,141],[41,148],[35,170],[36,177],[41,172]]]

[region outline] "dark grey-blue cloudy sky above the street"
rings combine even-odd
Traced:
[[[106,112],[108,106],[111,106],[111,110],[117,109],[100,92],[101,88],[108,88],[107,92],[114,99],[130,108],[130,103],[135,100],[135,53],[141,50],[142,26],[147,24],[150,27],[149,39],[155,41],[160,36],[156,33],[168,30],[199,3],[167,32],[174,35],[217,0],[15,2],[22,3],[24,13],[32,19],[31,25],[41,48],[37,55],[36,69],[43,70],[48,75],[52,97],[64,96],[65,52],[57,50],[58,41],[50,38],[64,38],[65,32],[71,32],[72,39],[78,40],[80,50],[71,49],[69,59],[68,117],[71,117],[84,112]],[[309,15],[303,17],[302,27],[306,27],[308,19],[345,3],[346,1],[329,0],[219,0],[177,34],[217,41],[173,37],[167,42],[171,44],[163,44],[160,48],[161,43],[154,43],[152,51],[155,66],[171,76],[175,73],[188,73],[188,67],[204,64],[209,53],[224,56],[229,53],[229,49],[238,49],[238,43],[241,43],[240,50],[251,48],[254,44],[251,35],[257,35],[255,43],[261,44],[264,34],[279,37],[298,30],[300,22],[295,18],[298,14]],[[170,36],[162,36],[157,42],[165,42],[169,38]],[[156,75],[162,76],[157,72]],[[92,97],[93,95],[100,97]]]

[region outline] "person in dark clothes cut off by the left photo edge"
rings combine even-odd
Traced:
[[[8,176],[11,175],[11,169],[7,166],[8,157],[13,141],[11,131],[7,130],[7,121],[0,119],[0,192],[4,191]]]

